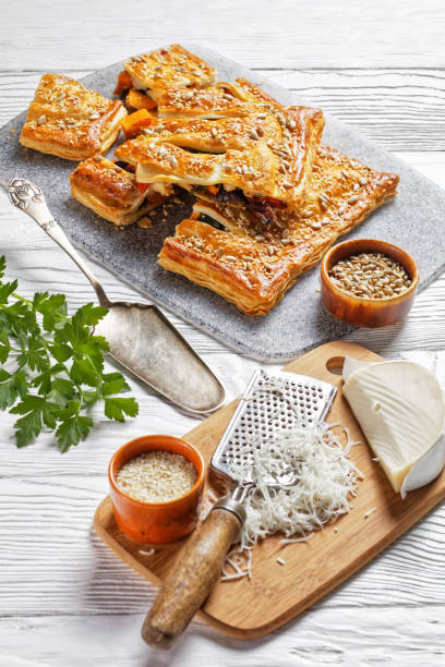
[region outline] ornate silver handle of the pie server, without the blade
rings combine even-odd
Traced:
[[[56,243],[68,253],[94,287],[100,305],[110,306],[110,301],[96,276],[89,270],[82,257],[74,250],[71,241],[56,222],[45,201],[45,195],[38,185],[28,179],[12,179],[8,186],[11,204],[26,213],[51,237]]]

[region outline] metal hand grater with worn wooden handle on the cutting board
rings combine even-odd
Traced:
[[[234,490],[212,508],[178,551],[142,628],[148,644],[169,648],[215,585],[245,521],[243,500],[255,484],[255,448],[274,441],[277,428],[323,422],[336,391],[333,385],[305,375],[254,373],[211,461],[215,472],[234,483]],[[289,470],[280,478],[270,474],[266,483],[269,488],[286,488],[298,484],[298,478]]]

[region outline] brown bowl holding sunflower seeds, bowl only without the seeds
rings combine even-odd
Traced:
[[[411,279],[410,287],[396,296],[385,299],[361,299],[341,290],[329,277],[332,267],[350,255],[383,253],[399,262]],[[358,327],[386,327],[399,322],[412,306],[419,284],[416,262],[401,247],[376,239],[357,239],[334,245],[321,265],[322,301],[334,317]]]

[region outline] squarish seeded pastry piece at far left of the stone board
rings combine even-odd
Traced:
[[[125,116],[121,101],[107,99],[68,76],[45,74],[20,143],[67,160],[83,160],[108,150]]]

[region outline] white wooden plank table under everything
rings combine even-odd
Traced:
[[[0,16],[0,125],[27,106],[44,72],[76,77],[163,44],[202,43],[298,90],[445,187],[442,0],[1,0]],[[2,194],[0,253],[25,294],[63,291],[72,307],[93,299],[62,251]],[[136,296],[97,272],[112,298]],[[418,360],[445,386],[444,298],[442,278],[402,325],[350,339]],[[256,364],[172,319],[230,396],[239,392]],[[48,436],[16,450],[12,419],[0,414],[1,667],[444,664],[444,506],[263,640],[233,640],[195,622],[170,653],[149,650],[140,627],[155,591],[98,541],[92,519],[121,442],[144,433],[181,435],[196,421],[131,384],[140,417],[99,420],[94,435],[63,456]]]

